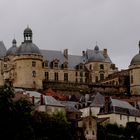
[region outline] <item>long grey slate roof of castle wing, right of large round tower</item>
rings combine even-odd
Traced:
[[[87,49],[85,55],[70,55],[68,54],[68,59],[64,56],[62,51],[57,50],[40,50],[43,58],[47,60],[49,63],[52,62],[54,59],[59,60],[60,66],[64,62],[68,62],[68,67],[70,69],[75,69],[76,65],[80,63],[86,63],[89,61],[100,61],[100,62],[108,62],[112,63],[111,59],[107,55],[105,58],[103,55],[103,51],[95,50],[95,49]],[[50,66],[50,65],[49,65]]]

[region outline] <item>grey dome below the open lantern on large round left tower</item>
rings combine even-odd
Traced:
[[[17,49],[17,55],[19,54],[41,54],[39,48],[32,42],[24,42]]]

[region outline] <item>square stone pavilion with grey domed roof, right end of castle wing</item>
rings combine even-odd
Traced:
[[[111,74],[113,71],[111,69],[112,62],[107,54],[107,49],[100,50],[96,45],[93,50],[88,49],[86,55],[86,68],[90,72],[90,82],[101,81]]]

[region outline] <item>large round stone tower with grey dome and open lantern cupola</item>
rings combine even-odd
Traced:
[[[24,42],[16,51],[14,87],[41,89],[42,88],[42,61],[39,48],[33,43],[32,30],[27,27],[23,33]]]

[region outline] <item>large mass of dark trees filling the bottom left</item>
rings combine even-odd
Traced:
[[[4,85],[0,90],[0,139],[75,140],[74,127],[63,112],[37,112],[28,100],[14,102],[13,97],[13,88]]]

